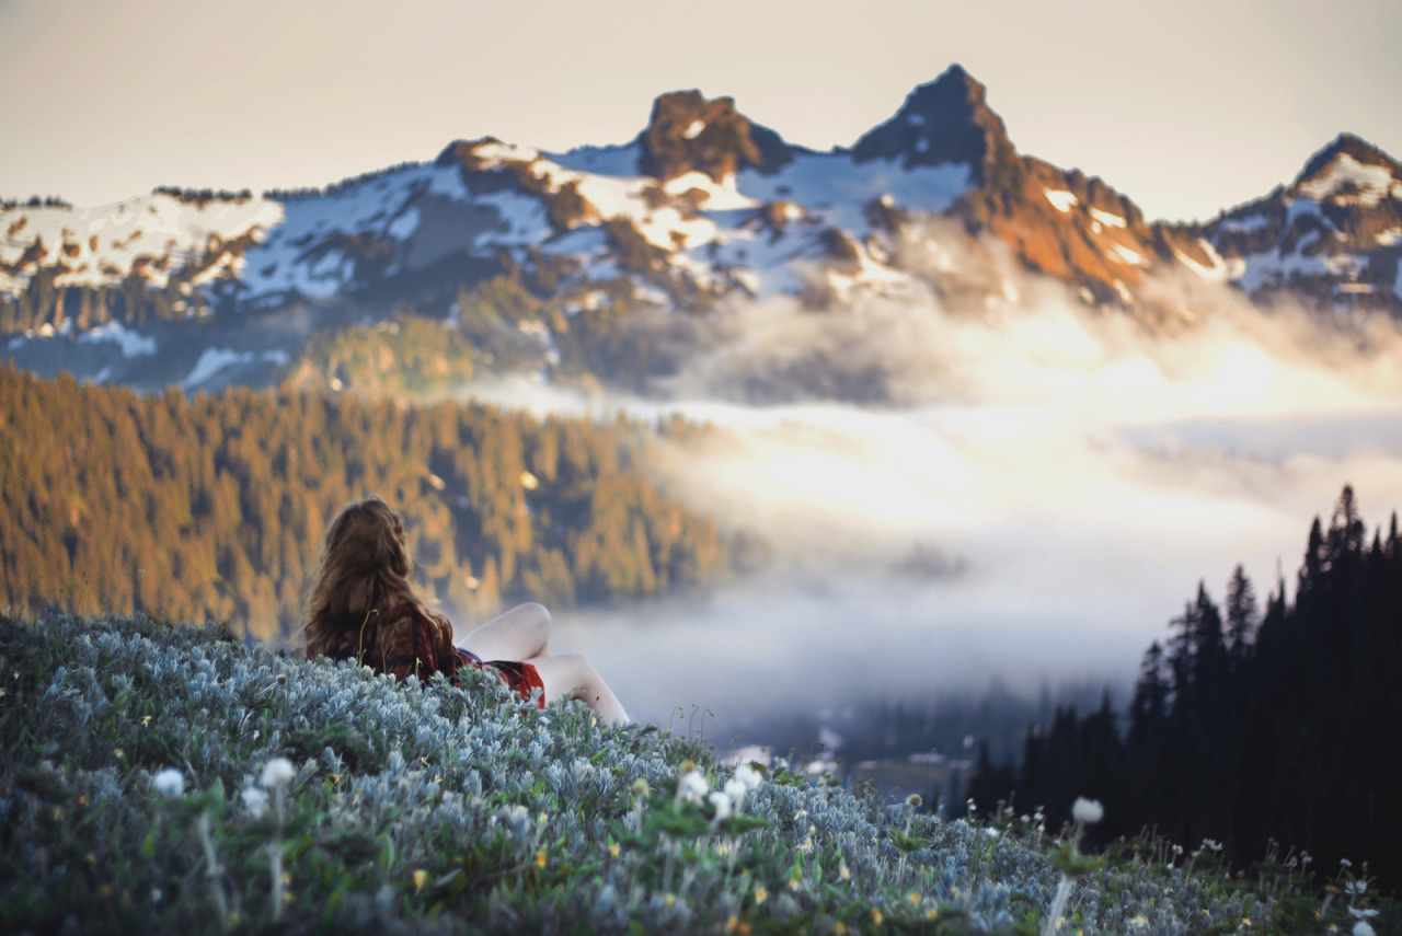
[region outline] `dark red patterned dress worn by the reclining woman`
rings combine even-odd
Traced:
[[[531,689],[540,689],[538,705],[545,708],[545,684],[536,667],[516,660],[482,661],[475,653],[453,645],[453,625],[447,618],[421,611],[412,604],[401,604],[383,619],[372,615],[359,632],[348,632],[327,656],[360,660],[380,673],[393,673],[400,682],[418,675],[425,685],[435,673],[442,673],[453,685],[461,687],[457,677],[460,668],[489,667],[508,688],[524,699],[530,699]]]

